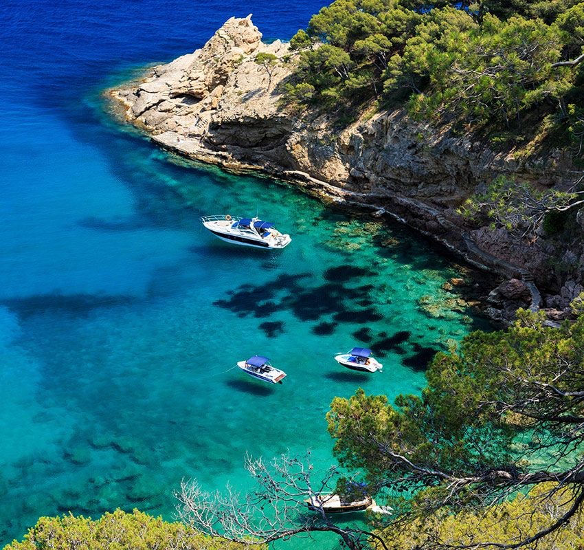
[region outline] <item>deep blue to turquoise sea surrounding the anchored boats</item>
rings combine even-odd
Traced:
[[[323,4],[0,4],[0,547],[43,515],[172,519],[182,478],[245,486],[246,452],[311,448],[324,468],[335,395],[420,391],[431,354],[476,326],[441,289],[460,266],[411,232],[189,166],[106,111],[103,89],[232,15],[289,39]],[[230,247],[199,223],[224,212],[259,212],[293,241]],[[383,373],[337,366],[359,344]],[[254,353],[284,384],[232,369]]]

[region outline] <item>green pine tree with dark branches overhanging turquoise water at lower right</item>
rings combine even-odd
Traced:
[[[362,390],[333,401],[335,455],[387,494],[389,529],[437,511],[476,511],[544,483],[539,498],[560,498],[561,514],[537,532],[482,543],[529,544],[580,513],[584,316],[560,328],[543,321],[521,311],[506,331],[472,333],[436,355],[422,395],[402,395],[395,406]]]

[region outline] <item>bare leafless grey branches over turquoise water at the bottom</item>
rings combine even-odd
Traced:
[[[183,481],[175,497],[177,515],[194,529],[210,536],[223,537],[243,544],[265,544],[317,531],[335,533],[350,550],[362,550],[374,536],[363,529],[341,527],[331,518],[320,495],[330,494],[339,478],[337,467],[313,481],[313,465],[282,455],[269,464],[245,458],[245,469],[258,489],[240,495],[227,486],[224,493],[203,491],[196,480]],[[315,511],[310,513],[304,499],[312,498]],[[316,497],[316,498],[314,498]],[[379,539],[379,537],[377,537]],[[384,550],[385,543],[379,539]]]

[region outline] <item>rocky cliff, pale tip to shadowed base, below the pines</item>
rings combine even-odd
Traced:
[[[550,317],[566,315],[562,310],[584,290],[578,245],[558,252],[546,239],[526,243],[504,230],[473,228],[456,208],[497,174],[566,186],[569,155],[495,153],[480,140],[414,122],[403,110],[366,111],[339,128],[330,115],[282,107],[295,54],[287,43],[261,39],[251,16],[229,19],[201,50],[109,94],[126,120],[165,148],[232,170],[262,170],[338,206],[394,217],[475,265],[524,279],[533,306],[540,301],[535,281],[548,291],[542,305]],[[276,61],[257,63],[260,52]],[[559,263],[561,272],[552,267]],[[497,296],[495,315],[508,308],[504,293]]]

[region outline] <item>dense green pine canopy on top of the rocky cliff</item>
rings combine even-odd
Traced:
[[[300,104],[407,102],[430,120],[514,129],[535,110],[566,132],[568,105],[582,107],[584,2],[336,0],[291,47],[287,97]]]

